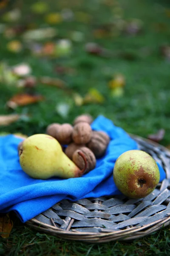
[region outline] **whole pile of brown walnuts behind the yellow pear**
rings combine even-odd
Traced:
[[[74,119],[73,125],[68,123],[52,123],[48,125],[46,133],[54,137],[61,145],[68,145],[65,154],[80,168],[84,168],[84,161],[78,154],[79,151],[85,155],[87,169],[91,171],[96,166],[96,158],[105,154],[110,137],[103,131],[93,131],[90,115],[84,114]]]

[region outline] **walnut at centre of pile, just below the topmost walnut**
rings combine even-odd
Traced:
[[[91,126],[87,122],[79,122],[74,126],[72,138],[76,144],[86,144],[91,140]]]

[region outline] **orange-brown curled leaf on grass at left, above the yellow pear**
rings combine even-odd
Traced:
[[[28,104],[40,102],[44,99],[41,95],[31,95],[27,93],[23,94],[16,94],[14,95],[9,101],[6,103],[6,105],[9,108],[17,108],[17,106],[25,106]]]

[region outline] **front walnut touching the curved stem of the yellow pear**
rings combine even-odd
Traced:
[[[84,173],[90,172],[93,170],[96,166],[96,157],[94,153],[87,147],[82,147],[80,149],[77,149],[73,154],[73,162],[79,167],[79,169],[83,169],[85,167],[85,162],[83,161],[82,157],[78,154],[79,151],[82,151],[82,153],[85,155],[85,158],[87,160],[87,169]]]

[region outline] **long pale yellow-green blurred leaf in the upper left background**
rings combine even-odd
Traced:
[[[57,35],[55,28],[30,29],[23,33],[23,39],[26,41],[41,41],[48,38],[54,38]]]

